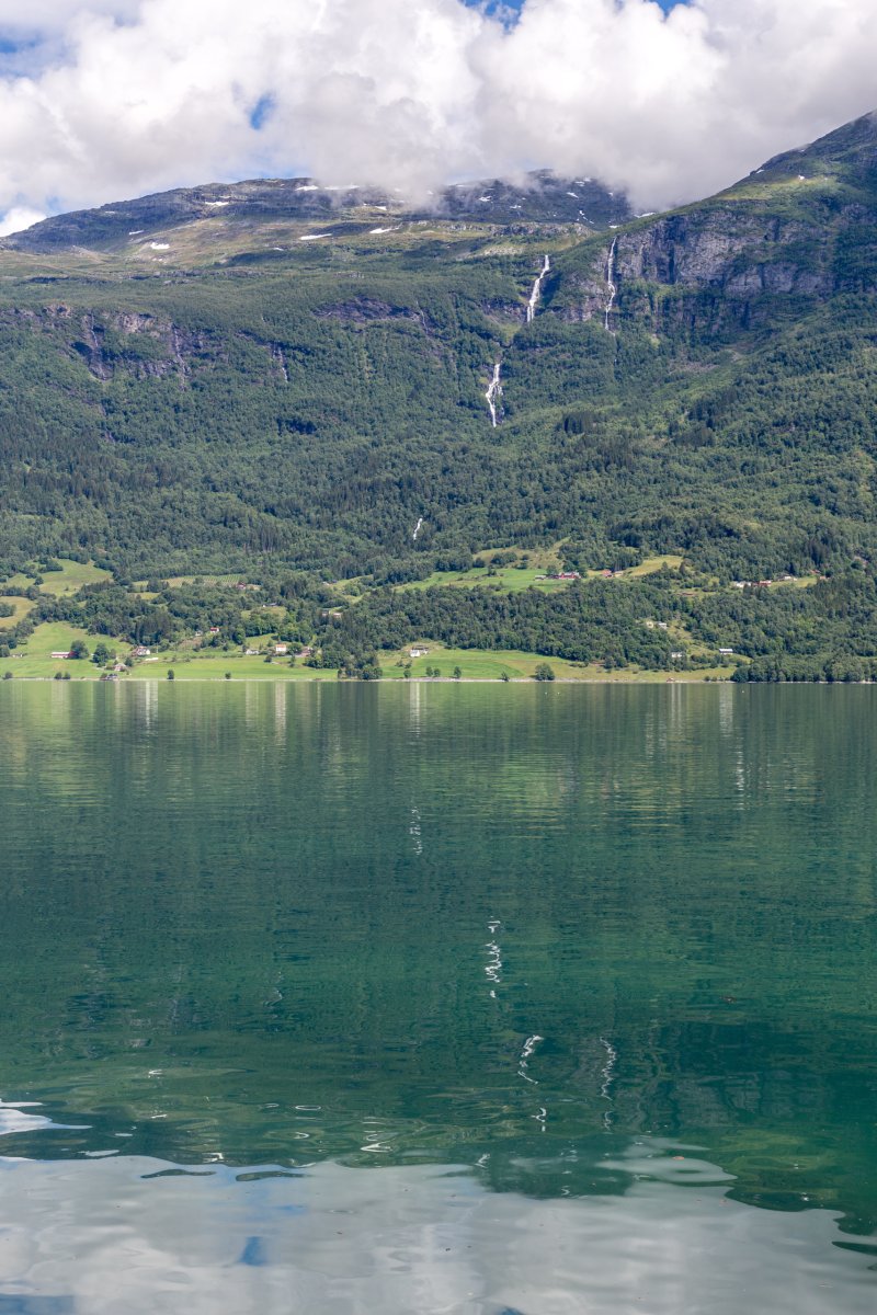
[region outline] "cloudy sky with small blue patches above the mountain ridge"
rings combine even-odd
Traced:
[[[874,0],[0,0],[0,231],[305,174],[659,209],[874,108]]]

